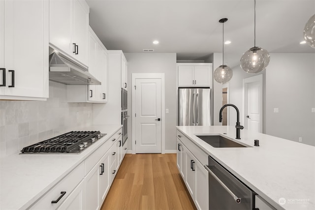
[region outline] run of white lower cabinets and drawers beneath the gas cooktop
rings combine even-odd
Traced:
[[[28,209],[99,210],[126,153],[120,141],[122,129],[109,137]]]

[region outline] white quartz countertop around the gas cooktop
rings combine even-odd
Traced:
[[[28,208],[121,127],[122,125],[93,125],[79,129],[107,134],[80,154],[17,153],[1,158],[0,210]]]

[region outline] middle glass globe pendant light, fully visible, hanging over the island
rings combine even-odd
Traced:
[[[241,58],[241,68],[254,74],[264,70],[270,61],[267,50],[256,47],[256,0],[254,0],[254,47],[246,51]]]

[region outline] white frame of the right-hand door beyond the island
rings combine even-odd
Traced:
[[[247,118],[246,118],[246,114],[245,112],[247,113],[247,90],[248,90],[248,84],[249,83],[255,83],[255,82],[258,82],[259,83],[259,86],[261,87],[260,90],[259,90],[259,94],[260,94],[260,97],[259,97],[259,100],[260,100],[260,103],[259,103],[259,113],[260,113],[260,133],[262,133],[262,129],[263,129],[263,75],[262,74],[259,74],[257,76],[253,76],[253,77],[249,77],[249,78],[245,78],[243,79],[243,120],[244,120],[244,128],[247,129],[248,128],[248,124],[247,124]]]

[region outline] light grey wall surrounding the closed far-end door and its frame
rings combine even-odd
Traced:
[[[165,74],[165,150],[176,150],[176,54],[175,53],[125,53],[128,61],[128,110],[131,107],[131,74]],[[162,110],[162,112],[165,110]],[[130,113],[131,114],[131,113]],[[133,116],[131,116],[133,117]],[[129,118],[130,119],[130,118]],[[128,120],[128,150],[132,150],[132,120]],[[130,139],[129,139],[130,138]]]

